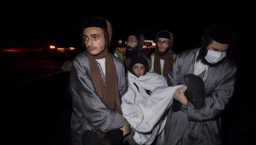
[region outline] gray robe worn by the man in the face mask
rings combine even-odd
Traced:
[[[196,52],[192,49],[177,55],[169,71],[167,82],[176,86],[186,74],[193,74]],[[208,68],[204,96],[205,105],[195,109],[191,102],[177,112],[169,111],[165,127],[164,145],[219,145],[221,144],[221,113],[234,90],[236,66],[228,58]],[[203,79],[204,72],[199,76]]]

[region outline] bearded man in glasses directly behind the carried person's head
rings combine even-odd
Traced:
[[[133,32],[128,36],[126,40],[126,51],[124,54],[121,54],[120,51],[115,49],[114,55],[119,58],[122,62],[124,62],[124,66],[127,69],[131,59],[134,56],[143,56],[147,59],[147,62],[151,64],[150,58],[148,58],[145,54],[142,53],[143,46],[145,44],[145,38],[142,34]],[[149,65],[151,68],[151,65]]]

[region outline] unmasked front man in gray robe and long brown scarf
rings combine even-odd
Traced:
[[[82,35],[86,51],[75,57],[69,83],[72,144],[109,145],[102,139],[109,132],[121,131],[121,138],[130,132],[120,107],[126,89],[124,66],[109,53],[112,28],[107,20],[88,18]]]

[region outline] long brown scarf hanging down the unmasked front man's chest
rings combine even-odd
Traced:
[[[117,82],[116,67],[113,63],[113,59],[107,49],[103,50],[97,56],[90,55],[87,53],[89,66],[91,71],[91,78],[94,84],[95,90],[102,101],[109,106],[109,108],[115,110],[119,114],[123,114],[120,105],[119,89]],[[102,80],[100,69],[98,68],[96,59],[105,58],[105,79],[106,84]],[[104,89],[105,88],[105,89]],[[105,134],[97,130],[99,137],[104,137]]]

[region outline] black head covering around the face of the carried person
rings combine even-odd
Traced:
[[[145,75],[145,74],[148,72],[148,69],[149,69],[149,68],[148,68],[148,62],[147,62],[146,58],[143,58],[142,56],[135,56],[135,57],[132,58],[132,60],[131,60],[131,62],[130,62],[130,64],[129,64],[129,66],[128,66],[128,71],[130,71],[132,74],[134,74],[135,76],[137,76],[136,73],[133,72],[133,70],[132,70],[133,65],[135,65],[135,64],[137,64],[137,63],[140,63],[140,64],[143,64],[143,65],[144,65],[144,67],[145,67],[145,72],[144,72],[143,75]]]

